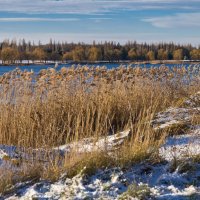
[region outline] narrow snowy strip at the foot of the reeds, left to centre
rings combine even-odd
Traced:
[[[15,146],[0,145],[0,168],[8,167],[8,164],[15,160],[47,162],[47,158],[64,156],[67,153],[76,151],[77,153],[88,153],[92,151],[111,151],[117,149],[129,137],[130,130],[126,130],[114,135],[99,138],[86,138],[78,142],[69,143],[53,149],[26,149]],[[48,156],[47,156],[48,155]]]

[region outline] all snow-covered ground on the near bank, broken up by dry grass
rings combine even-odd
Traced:
[[[21,183],[17,185],[16,192],[2,199],[134,199],[131,198],[130,185],[138,185],[138,193],[146,195],[140,199],[158,200],[187,200],[200,199],[200,162],[192,159],[200,155],[200,124],[190,124],[194,114],[199,115],[200,108],[197,97],[188,100],[186,108],[169,108],[158,113],[152,124],[155,129],[170,127],[174,124],[186,123],[189,127],[187,133],[170,136],[160,147],[159,155],[162,158],[158,163],[143,163],[132,167],[111,168],[99,170],[93,176],[80,173],[72,179],[65,174],[56,183],[40,181],[35,184]],[[130,131],[100,138],[98,141],[88,138],[81,142],[54,148],[53,152],[67,153],[74,148],[78,152],[91,152],[97,149],[111,150],[118,148],[128,138]],[[0,164],[5,164],[5,157],[16,158],[15,147],[0,146]],[[200,159],[200,157],[199,157]],[[83,169],[84,171],[84,169]],[[144,187],[142,187],[144,186]],[[133,187],[134,188],[134,187]],[[146,189],[144,189],[146,188]],[[135,189],[136,190],[136,189]],[[148,192],[147,192],[148,191]],[[137,194],[138,194],[137,193]],[[130,197],[130,198],[129,198]],[[137,198],[135,198],[137,199]]]

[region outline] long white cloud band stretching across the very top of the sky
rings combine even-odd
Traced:
[[[196,8],[199,0],[0,0],[0,11],[22,13],[103,13],[111,9]],[[195,5],[192,5],[195,4]],[[197,8],[198,9],[198,8]]]

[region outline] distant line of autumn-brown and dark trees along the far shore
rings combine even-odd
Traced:
[[[48,44],[4,40],[0,43],[0,59],[3,63],[27,61],[152,61],[152,60],[200,60],[200,47],[174,43],[147,44],[127,42],[59,43]]]

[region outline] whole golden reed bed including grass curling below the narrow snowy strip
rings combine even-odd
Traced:
[[[110,70],[72,66],[39,74],[16,69],[0,78],[0,144],[49,149],[130,129],[131,138],[112,156],[108,152],[78,157],[71,153],[62,167],[51,161],[44,171],[40,168],[40,175],[48,178],[64,170],[73,176],[84,166],[90,172],[110,165],[126,166],[156,157],[167,133],[158,137],[150,121],[199,88],[198,66]]]

